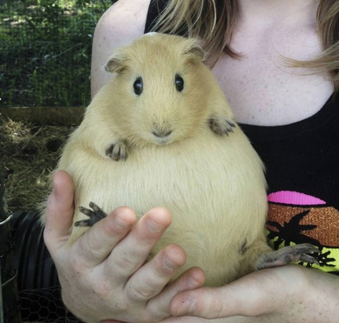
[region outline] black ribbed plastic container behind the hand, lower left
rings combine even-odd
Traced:
[[[22,320],[80,322],[62,303],[57,270],[44,243],[38,212],[16,211],[11,226]]]

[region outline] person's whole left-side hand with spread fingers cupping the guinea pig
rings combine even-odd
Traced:
[[[62,299],[82,321],[157,322],[170,315],[176,293],[202,286],[205,277],[199,268],[167,285],[185,263],[180,246],[167,246],[145,263],[170,225],[167,210],[152,209],[136,222],[132,209],[118,208],[70,246],[73,214],[72,179],[57,171],[44,239],[58,270]]]

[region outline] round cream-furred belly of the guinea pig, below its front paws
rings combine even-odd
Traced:
[[[172,146],[132,148],[126,161],[88,158],[73,176],[76,207],[93,201],[110,212],[124,205],[139,216],[167,208],[172,224],[154,253],[170,243],[182,246],[184,269],[200,266],[213,285],[234,278],[244,241],[263,230],[262,164],[239,130],[229,138],[208,132]]]

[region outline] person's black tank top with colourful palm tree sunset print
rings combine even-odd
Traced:
[[[145,32],[166,2],[151,0]],[[311,243],[322,251],[312,267],[339,274],[339,93],[305,120],[240,126],[266,167],[270,245]]]

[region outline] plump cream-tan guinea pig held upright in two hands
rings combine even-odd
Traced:
[[[150,257],[178,244],[187,256],[180,273],[199,266],[206,285],[297,259],[315,262],[306,254],[313,246],[267,246],[262,161],[203,59],[197,40],[152,33],[108,61],[115,75],[87,107],[58,165],[75,185],[69,243],[119,206],[138,216],[162,206],[172,223]]]

